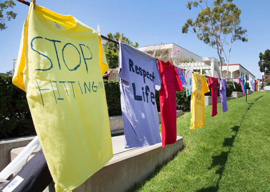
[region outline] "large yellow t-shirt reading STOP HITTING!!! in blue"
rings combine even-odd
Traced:
[[[101,37],[31,3],[17,59],[13,84],[26,91],[55,190],[73,190],[113,157]]]

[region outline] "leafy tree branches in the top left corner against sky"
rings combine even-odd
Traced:
[[[4,1],[3,3],[0,3],[0,29],[5,30],[7,29],[6,23],[7,21],[10,21],[11,19],[15,19],[17,13],[14,13],[13,11],[7,11],[6,16],[4,17],[3,11],[4,9],[7,9],[9,7],[13,8],[16,4],[14,1]]]

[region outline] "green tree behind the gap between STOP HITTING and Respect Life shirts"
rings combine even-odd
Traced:
[[[107,34],[107,37],[110,38],[110,39],[113,39],[115,41],[119,41],[119,38],[120,38],[120,33],[119,32],[116,32],[115,35],[113,35],[111,32]],[[135,45],[133,44],[132,41],[129,40],[129,38],[123,36],[122,38],[122,42],[123,43],[126,43],[126,44],[129,44],[133,47],[138,47],[139,44],[138,42],[135,42]],[[113,42],[110,42],[110,41],[107,41],[106,42],[106,45],[107,47],[105,48],[105,55],[107,57],[107,62],[108,62],[108,65],[110,68],[113,68],[114,66],[118,65],[118,61],[119,61],[119,57],[118,57],[118,45],[113,43]]]

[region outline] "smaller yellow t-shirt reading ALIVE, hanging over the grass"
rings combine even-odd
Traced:
[[[192,90],[190,101],[191,125],[190,129],[205,126],[204,94],[209,92],[205,76],[192,73]]]

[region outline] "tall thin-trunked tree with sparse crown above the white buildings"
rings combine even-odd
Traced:
[[[202,7],[202,2],[205,8]],[[246,29],[240,27],[241,10],[236,7],[232,0],[214,0],[209,6],[208,0],[188,1],[187,8],[200,7],[201,11],[193,21],[187,19],[182,27],[182,33],[188,31],[196,33],[199,40],[217,49],[220,60],[220,77],[222,77],[222,54],[227,61],[227,74],[229,66],[229,54],[232,49],[232,43],[241,40],[247,42]],[[192,28],[192,29],[190,29]],[[229,45],[228,56],[225,53],[224,45]]]

